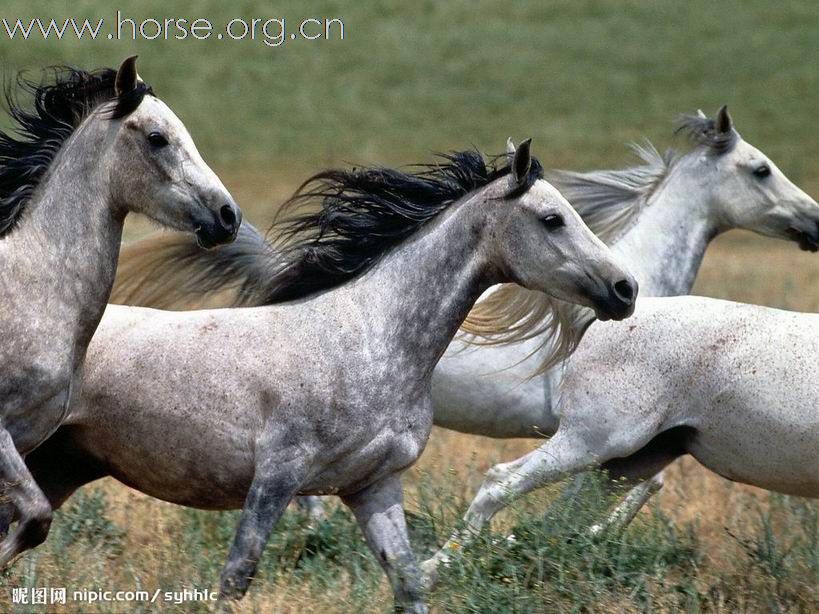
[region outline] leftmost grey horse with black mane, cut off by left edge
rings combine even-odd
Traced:
[[[9,93],[16,133],[0,133],[0,492],[19,523],[0,567],[42,542],[51,506],[23,455],[60,426],[105,309],[129,211],[231,241],[240,212],[182,122],[137,77],[54,69],[33,110]]]

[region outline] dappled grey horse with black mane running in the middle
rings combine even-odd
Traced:
[[[318,211],[274,225],[281,249],[255,244],[266,274],[245,290],[264,306],[109,307],[81,398],[28,459],[52,504],[112,475],[174,503],[243,507],[221,575],[221,595],[239,598],[288,502],[339,495],[396,605],[425,611],[400,476],[474,302],[514,280],[603,318],[634,308],[634,280],[541,176],[528,142],[511,164],[461,152],[414,173],[326,171],[285,209]]]

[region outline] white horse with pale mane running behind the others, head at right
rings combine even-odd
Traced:
[[[801,248],[816,251],[816,201],[740,138],[725,107],[716,120],[701,113],[683,117],[680,128],[697,145],[685,155],[660,155],[647,145],[636,148],[644,166],[549,175],[634,272],[641,296],[690,293],[709,243],[731,229],[795,240]],[[492,345],[475,347],[470,343],[474,339],[467,338],[456,339],[448,348],[433,376],[437,426],[499,438],[556,432],[555,385],[563,369],[574,367],[569,361],[544,377],[532,377],[551,362],[553,349],[565,343],[555,342],[549,322],[541,319],[548,313],[542,308],[546,305],[538,294],[514,286],[501,287],[478,303],[466,329],[480,334],[480,322],[487,321],[506,332],[490,335]],[[577,311],[568,318],[576,321],[570,327],[582,330],[589,314]],[[506,326],[499,326],[499,319],[505,319]]]

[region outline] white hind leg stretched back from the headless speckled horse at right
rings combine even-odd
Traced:
[[[594,464],[594,457],[582,440],[558,432],[537,450],[511,463],[492,467],[464,516],[465,529],[450,537],[422,564],[425,586],[431,588],[437,581],[438,565],[472,541],[483,526],[512,501]]]

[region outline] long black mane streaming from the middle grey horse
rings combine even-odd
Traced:
[[[261,302],[305,297],[360,275],[447,207],[511,172],[506,156],[487,163],[474,150],[442,154],[437,164],[414,168],[328,170],[302,184],[282,209],[316,201],[319,209],[270,229],[283,259]],[[532,158],[525,181],[506,198],[520,196],[542,177],[543,167]]]

